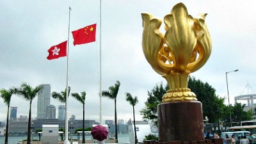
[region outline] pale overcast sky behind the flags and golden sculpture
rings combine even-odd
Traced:
[[[164,18],[180,1],[109,0],[102,1],[102,90],[119,80],[117,119],[132,118],[132,106],[125,100],[125,92],[138,96],[136,119],[145,106],[147,90],[161,81],[145,60],[142,48],[141,13],[150,12]],[[230,102],[237,95],[256,91],[256,2],[255,1],[183,1],[188,13],[208,13],[205,23],[212,38],[212,54],[200,70],[191,74],[211,84],[220,97],[227,97],[225,72],[228,74]],[[51,92],[66,87],[67,58],[47,60],[52,45],[68,39],[68,7],[70,13],[69,85],[71,93],[86,94],[88,120],[99,122],[99,46],[100,1],[1,1],[0,2],[0,88],[19,87],[28,83],[35,87],[51,84]],[[97,41],[72,45],[71,31],[97,23]],[[162,24],[161,29],[163,29]],[[162,31],[164,33],[164,31]],[[250,84],[251,89],[247,89]],[[244,89],[245,88],[245,89]],[[207,95],[205,95],[207,99]],[[228,104],[227,99],[225,101]],[[36,116],[37,97],[33,100],[32,116]],[[51,99],[56,106],[61,103]],[[11,106],[17,115],[28,115],[29,102],[13,95]],[[0,120],[6,120],[6,105],[0,99]],[[57,110],[58,111],[58,110]],[[68,117],[83,118],[83,107],[74,98],[68,99]],[[102,120],[114,120],[114,100],[102,98]]]

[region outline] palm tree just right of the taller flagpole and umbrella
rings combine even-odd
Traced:
[[[116,96],[119,90],[120,82],[116,81],[115,86],[109,86],[108,90],[102,91],[103,97],[108,97],[109,99],[115,100],[115,143],[118,143],[117,140],[117,122],[116,122]]]

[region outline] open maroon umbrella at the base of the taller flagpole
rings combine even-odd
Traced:
[[[95,127],[93,127],[91,134],[95,140],[99,140],[99,141],[102,141],[108,138],[108,130],[106,129],[106,127],[102,125],[96,125]]]

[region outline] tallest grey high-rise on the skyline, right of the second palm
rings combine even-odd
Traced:
[[[47,106],[50,106],[51,86],[50,84],[42,84],[43,90],[38,93],[37,99],[37,118],[47,118]]]

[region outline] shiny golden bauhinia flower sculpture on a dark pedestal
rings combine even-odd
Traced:
[[[205,25],[205,16],[188,15],[182,3],[173,6],[164,17],[165,34],[159,31],[161,19],[150,13],[142,13],[142,47],[152,68],[163,76],[170,90],[162,102],[197,100],[188,88],[188,76],[208,60],[211,54],[211,36]]]

